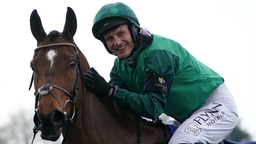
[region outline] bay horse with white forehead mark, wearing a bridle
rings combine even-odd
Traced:
[[[90,66],[74,42],[77,19],[70,7],[63,32],[47,35],[36,9],[30,27],[37,40],[30,62],[30,88],[34,81],[36,97],[34,132],[40,130],[42,139],[56,141],[62,134],[62,144],[168,144],[163,123],[136,117],[86,89],[82,70]]]

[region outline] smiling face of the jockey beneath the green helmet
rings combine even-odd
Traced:
[[[137,28],[135,27],[136,31]],[[136,43],[132,41],[130,30],[127,24],[107,31],[103,37],[108,45],[108,48],[119,58],[128,57]]]

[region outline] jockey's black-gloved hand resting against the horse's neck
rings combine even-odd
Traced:
[[[85,86],[97,95],[113,97],[116,87],[106,82],[93,67],[91,70],[83,70],[86,80]]]

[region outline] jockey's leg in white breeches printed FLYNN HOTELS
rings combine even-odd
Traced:
[[[232,132],[237,120],[234,98],[223,83],[179,126],[168,144],[218,144]]]

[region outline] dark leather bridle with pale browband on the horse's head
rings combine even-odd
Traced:
[[[74,85],[74,88],[73,88],[73,91],[71,93],[69,93],[67,90],[59,87],[59,86],[56,86],[56,85],[52,85],[52,84],[46,84],[46,85],[43,85],[41,88],[38,89],[38,92],[35,93],[35,112],[37,110],[37,106],[38,106],[38,103],[41,99],[41,96],[44,95],[43,93],[47,92],[47,93],[50,93],[56,100],[57,102],[59,103],[60,107],[62,108],[62,112],[64,113],[64,115],[66,116],[66,112],[64,111],[65,110],[65,105],[67,104],[67,102],[70,102],[73,107],[74,107],[74,112],[73,112],[73,116],[71,118],[66,118],[65,119],[68,121],[69,125],[67,127],[67,130],[65,132],[65,135],[63,136],[63,141],[62,141],[62,144],[65,144],[66,142],[66,138],[67,138],[67,131],[69,129],[69,126],[71,123],[73,123],[73,117],[75,115],[75,101],[76,99],[80,102],[82,102],[81,100],[79,100],[78,96],[77,96],[77,90],[79,89],[78,88],[78,80],[79,80],[79,73],[81,73],[82,75],[82,85],[84,84],[84,82],[86,81],[85,80],[85,77],[83,75],[83,71],[82,71],[82,65],[80,63],[80,56],[78,54],[78,50],[76,48],[76,46],[74,44],[71,44],[71,43],[54,43],[54,44],[46,44],[46,45],[41,45],[41,46],[38,46],[34,52],[40,50],[40,49],[43,49],[43,48],[48,48],[48,47],[57,47],[57,46],[71,46],[73,47],[73,49],[75,50],[75,52],[77,53],[77,66],[76,66],[76,82],[75,82],[75,85]],[[34,72],[32,74],[32,78],[31,78],[31,81],[30,81],[30,85],[29,85],[29,90],[31,89],[32,87],[32,83],[34,81]],[[66,93],[69,97],[70,97],[70,100],[66,101],[65,104],[63,105],[63,107],[61,106],[61,103],[58,99],[58,97],[51,91],[52,88],[56,88],[56,89],[59,89],[61,91],[63,91],[64,93]],[[35,138],[35,135],[36,133],[39,131],[36,126],[34,127],[33,129],[34,131],[34,138]],[[34,138],[33,138],[33,141],[34,141]],[[33,141],[32,141],[32,144],[33,144]]]

